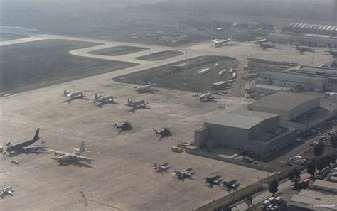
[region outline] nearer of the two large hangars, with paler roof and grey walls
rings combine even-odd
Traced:
[[[238,109],[205,121],[194,133],[198,148],[234,148],[267,156],[289,144],[295,129],[279,125],[279,114]]]

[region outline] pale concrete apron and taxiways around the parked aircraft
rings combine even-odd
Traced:
[[[60,38],[50,36],[53,39],[55,37]],[[40,36],[31,40],[38,38],[44,39]],[[86,38],[67,39],[105,43],[102,40]],[[29,38],[21,40],[30,41]],[[19,40],[12,42],[20,43]],[[255,48],[255,44],[239,45],[248,46],[247,49],[257,52],[255,55],[259,57],[269,55],[270,60],[283,60],[277,53]],[[228,55],[242,58],[244,55],[250,55],[248,50],[239,50],[239,45],[211,48],[208,44],[201,44],[188,48],[167,49],[160,46],[160,50],[188,49],[189,57]],[[141,46],[151,48],[150,45]],[[284,48],[290,49],[290,46]],[[87,56],[87,52],[91,50],[93,49],[76,52],[77,55]],[[132,57],[139,57],[145,52],[133,53]],[[294,55],[299,53],[295,50],[289,52],[294,57],[291,62],[296,62]],[[328,60],[328,56],[323,56],[319,63]],[[131,59],[130,55],[118,57],[127,61]],[[191,92],[178,90],[160,89],[159,93],[137,94],[132,88],[133,85],[112,80],[112,77],[183,58],[184,55],[156,62],[143,61],[137,67],[1,98],[2,141],[11,138],[13,142],[18,143],[30,139],[36,128],[41,127],[41,139],[46,141],[45,145],[49,148],[73,152],[73,148],[77,148],[80,141],[85,141],[87,149],[91,152],[84,153],[83,156],[95,160],[89,166],[58,166],[53,154],[21,154],[3,158],[0,162],[0,186],[13,186],[15,195],[1,199],[1,207],[6,207],[7,210],[192,210],[228,194],[223,188],[209,188],[203,183],[206,176],[223,175],[223,180],[239,179],[242,188],[270,175],[252,168],[171,151],[171,146],[175,146],[178,140],[193,141],[193,130],[198,129],[205,119],[221,112],[217,108],[219,103],[199,103],[191,97]],[[299,57],[297,62],[305,65],[311,55],[306,55],[305,58]],[[112,59],[115,60],[116,57]],[[85,90],[87,100],[64,102],[62,94],[65,88]],[[96,107],[90,101],[95,92],[103,95],[113,94],[118,98],[119,104]],[[144,99],[150,103],[151,109],[129,112],[129,108],[124,106],[127,98]],[[249,100],[243,97],[223,97],[220,104],[223,103],[226,104],[227,110],[232,110],[249,103]],[[122,124],[124,121],[131,121],[134,129],[119,134],[112,125]],[[169,126],[173,136],[159,141],[152,130],[162,126]],[[19,161],[20,164],[16,165],[11,161]],[[163,174],[152,171],[153,163],[160,162],[170,163],[170,170],[193,168],[193,180],[179,181],[170,175],[170,171]],[[87,206],[80,192],[89,200]]]

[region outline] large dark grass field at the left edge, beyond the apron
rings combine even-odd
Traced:
[[[137,65],[70,55],[99,43],[42,40],[0,47],[0,94],[18,93]]]

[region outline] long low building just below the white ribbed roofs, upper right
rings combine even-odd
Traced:
[[[274,43],[290,43],[296,45],[321,46],[337,48],[337,36],[297,33],[269,33],[267,40]]]

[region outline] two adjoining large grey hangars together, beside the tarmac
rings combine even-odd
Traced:
[[[271,94],[204,122],[194,131],[197,148],[232,148],[268,156],[287,146],[298,135],[336,116],[320,107],[319,97],[291,92]]]

